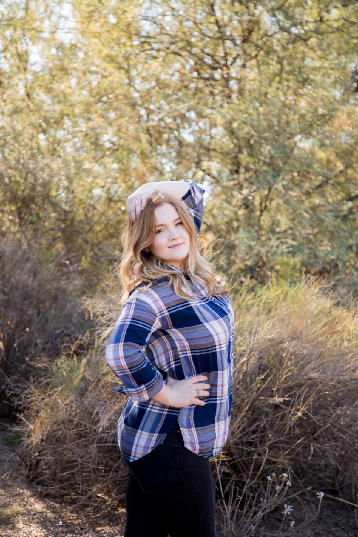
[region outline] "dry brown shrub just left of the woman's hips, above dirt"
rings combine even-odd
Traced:
[[[31,482],[76,509],[90,508],[95,519],[115,517],[125,501],[115,427],[126,398],[114,395],[118,382],[107,369],[99,352],[39,363],[38,377],[16,396],[23,408],[20,455]]]

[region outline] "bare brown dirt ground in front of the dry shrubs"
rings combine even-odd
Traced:
[[[0,420],[1,537],[122,537],[125,510],[119,513],[118,525],[101,523],[93,527],[85,517],[78,516],[67,506],[41,498],[36,488],[27,482],[24,466],[11,444],[5,441],[10,434],[9,426],[10,420]],[[16,475],[10,477],[13,468],[16,468]],[[277,535],[276,524],[272,521],[267,525],[262,536]],[[312,537],[357,537],[356,511],[354,507],[325,496],[317,520],[306,527],[304,534]],[[295,535],[295,532],[288,535]]]

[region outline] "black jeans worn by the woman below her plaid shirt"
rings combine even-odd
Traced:
[[[209,459],[184,446],[178,422],[163,444],[127,466],[124,537],[216,537]]]

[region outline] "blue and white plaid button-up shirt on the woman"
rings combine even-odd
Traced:
[[[199,234],[204,190],[185,181],[190,188],[181,199]],[[219,453],[229,438],[235,315],[228,295],[209,296],[200,282],[194,287],[186,278],[195,300],[181,299],[166,278],[147,291],[140,293],[142,285],[131,292],[108,341],[107,365],[122,381],[114,391],[129,396],[117,425],[126,462],[162,444],[176,420],[185,446],[203,457]],[[174,408],[151,400],[167,373],[176,380],[206,375],[211,386],[210,396],[202,397],[206,405]]]

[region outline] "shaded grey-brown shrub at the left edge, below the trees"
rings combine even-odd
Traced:
[[[36,244],[0,246],[0,415],[10,416],[8,381],[26,378],[33,359],[86,350],[84,315],[79,312],[78,275]]]

